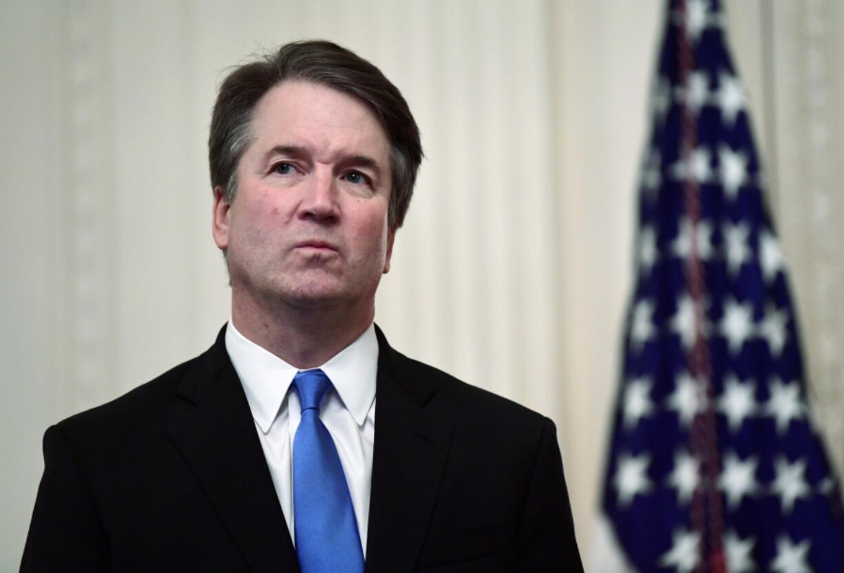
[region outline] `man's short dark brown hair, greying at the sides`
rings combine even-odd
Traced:
[[[381,124],[390,142],[392,192],[389,224],[402,226],[422,160],[419,128],[407,102],[381,70],[328,41],[299,41],[281,46],[266,57],[235,68],[219,88],[208,163],[211,186],[231,203],[237,192],[237,167],[254,140],[252,117],[263,95],[286,81],[319,84],[363,102]]]

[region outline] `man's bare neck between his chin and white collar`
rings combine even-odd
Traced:
[[[375,306],[361,309],[283,305],[268,312],[251,305],[231,305],[232,322],[243,336],[299,369],[325,364],[353,343],[371,324]]]

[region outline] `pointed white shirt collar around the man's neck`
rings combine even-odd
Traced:
[[[266,434],[284,405],[290,383],[299,369],[243,336],[231,320],[225,330],[225,349],[241,379],[252,417]],[[354,421],[363,426],[375,400],[378,373],[375,326],[370,324],[353,343],[319,368],[331,380]]]

